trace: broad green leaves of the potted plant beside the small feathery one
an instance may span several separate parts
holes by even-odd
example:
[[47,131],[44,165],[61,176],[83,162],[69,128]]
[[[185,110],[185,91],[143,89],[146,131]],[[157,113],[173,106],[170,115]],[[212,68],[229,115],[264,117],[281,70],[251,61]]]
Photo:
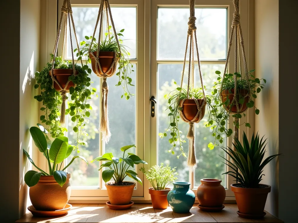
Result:
[[141,158],[136,156],[134,153],[127,153],[125,157],[125,151],[130,149],[131,147],[136,147],[135,145],[127,145],[120,148],[123,152],[123,156],[118,158],[113,156],[113,153],[105,153],[102,156],[95,158],[94,161],[107,161],[100,165],[99,170],[104,167],[108,167],[108,169],[102,172],[102,178],[107,183],[112,178],[114,179],[113,185],[121,186],[127,185],[124,183],[124,178],[126,176],[136,180],[142,185],[142,180],[137,176],[138,174],[129,168],[134,168],[134,164],[147,164],[147,162],[143,161]]

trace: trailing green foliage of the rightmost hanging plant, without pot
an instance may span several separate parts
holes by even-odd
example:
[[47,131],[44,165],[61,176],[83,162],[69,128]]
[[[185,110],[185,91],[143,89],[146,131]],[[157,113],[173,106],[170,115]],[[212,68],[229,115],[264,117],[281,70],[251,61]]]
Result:
[[[260,113],[260,110],[254,106],[254,101],[248,101],[248,99],[257,98],[257,93],[260,93],[261,89],[264,88],[264,84],[266,84],[266,79],[255,78],[252,75],[253,72],[254,70],[248,72],[249,79],[237,79],[237,89],[235,89],[235,76],[237,76],[237,78],[240,78],[240,73],[235,72],[234,74],[225,74],[224,78],[222,78],[221,72],[218,70],[215,71],[215,73],[218,75],[217,81],[214,82],[215,85],[212,91],[212,95],[215,95],[215,104],[213,106],[212,111],[210,112],[212,116],[211,123],[209,122],[208,124],[206,124],[206,126],[214,124],[215,121],[216,125],[214,125],[215,131],[213,132],[213,135],[216,137],[216,139],[219,139],[220,143],[223,142],[223,137],[229,137],[233,134],[233,130],[231,128],[226,128],[226,120],[228,120],[230,117],[232,106],[236,104],[235,101],[230,101],[229,95],[234,95],[233,92],[235,92],[238,98],[238,104],[243,106],[243,104],[246,103],[245,105],[248,108],[255,109],[255,114]],[[263,83],[261,83],[262,81]],[[228,95],[226,96],[225,101],[222,100],[222,92],[220,92],[221,85],[223,86],[223,91],[228,91]],[[249,90],[249,86],[251,91]],[[248,93],[243,95],[243,90],[246,90]],[[242,94],[240,93],[240,91],[242,92]],[[234,112],[232,114],[233,118],[240,119],[242,116],[246,117],[246,114],[243,112]],[[233,125],[237,128],[240,128],[240,125],[245,125],[246,127],[251,128],[251,125],[248,122],[239,123],[239,121],[233,121]],[[208,147],[214,147],[214,145],[209,144]]]

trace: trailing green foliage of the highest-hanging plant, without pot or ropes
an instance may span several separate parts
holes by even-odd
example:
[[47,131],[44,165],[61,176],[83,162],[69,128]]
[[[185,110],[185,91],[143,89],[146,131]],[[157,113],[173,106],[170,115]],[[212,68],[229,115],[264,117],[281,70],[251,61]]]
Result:
[[[111,26],[107,28],[107,30],[110,30],[110,29],[111,29]],[[116,34],[120,37],[120,36],[123,36],[122,32],[124,32],[124,29],[121,29]],[[119,80],[116,86],[122,86],[123,94],[121,95],[121,98],[125,97],[128,100],[131,96],[134,96],[134,94],[129,92],[129,89],[128,89],[128,86],[134,86],[132,84],[131,77],[128,76],[131,74],[131,72],[134,72],[134,70],[132,70],[134,66],[131,64],[129,60],[130,53],[126,49],[127,46],[123,45],[124,40],[118,39],[119,46],[120,46],[120,49],[119,49],[114,33],[110,33],[110,38],[108,37],[109,36],[108,34],[109,34],[108,32],[105,32],[105,39],[101,40],[100,43],[98,43],[95,37],[85,36],[86,40],[80,42],[80,45],[83,47],[80,49],[80,53],[77,53],[77,56],[79,57],[78,59],[81,59],[82,56],[85,56],[86,64],[91,63],[91,59],[89,58],[88,52],[89,52],[92,39],[93,39],[93,42],[91,45],[91,52],[97,51],[98,45],[99,45],[100,51],[116,52],[117,54],[116,56],[119,58],[119,62],[118,62],[119,71],[116,73],[116,75],[119,77]],[[76,51],[77,49],[74,50],[74,52]]]

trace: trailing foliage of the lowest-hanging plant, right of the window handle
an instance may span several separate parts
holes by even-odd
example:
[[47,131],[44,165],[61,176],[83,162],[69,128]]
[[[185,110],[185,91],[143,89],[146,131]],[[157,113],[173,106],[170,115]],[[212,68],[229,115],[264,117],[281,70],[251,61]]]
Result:
[[[177,84],[174,82],[174,84]],[[204,88],[206,91],[206,88]],[[180,106],[180,101],[183,99],[187,99],[187,88],[181,88],[177,85],[177,88],[173,90],[172,92],[169,93],[169,95],[165,95],[165,98],[168,98],[168,104],[169,107],[166,110],[169,110],[168,116],[170,117],[170,125],[169,127],[162,133],[159,133],[159,137],[163,138],[167,136],[167,132],[170,131],[170,137],[168,139],[170,145],[172,148],[168,150],[169,153],[172,153],[173,155],[175,154],[175,147],[177,146],[177,143],[179,144],[180,147],[180,154],[177,156],[179,158],[181,155],[184,157],[187,157],[186,154],[184,153],[184,149],[182,144],[185,142],[184,139],[181,138],[182,132],[179,130],[179,120],[180,120],[180,115],[179,115],[179,110],[182,111],[183,108]],[[202,87],[199,88],[191,88],[189,89],[189,98],[196,98],[196,99],[203,99],[203,91]],[[207,95],[206,94],[206,107],[208,110],[208,113],[212,113],[214,109],[216,109],[216,105],[214,104],[214,96],[213,95]],[[216,120],[212,120],[212,116],[209,115],[208,117],[208,122],[206,124],[206,127],[210,127],[210,129],[213,131],[212,135],[215,136],[215,140],[222,140],[220,138],[221,136],[218,137],[216,134]],[[210,142],[212,145],[213,143]],[[209,143],[209,145],[210,145]],[[208,146],[209,146],[208,145]],[[210,147],[210,149],[213,149],[214,147]]]

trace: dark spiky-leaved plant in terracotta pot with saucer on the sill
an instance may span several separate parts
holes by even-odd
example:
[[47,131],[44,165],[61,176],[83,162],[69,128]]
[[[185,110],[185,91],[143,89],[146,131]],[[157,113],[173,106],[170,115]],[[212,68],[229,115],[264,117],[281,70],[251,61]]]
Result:
[[[264,136],[263,136],[264,137]],[[265,155],[266,139],[259,140],[259,135],[252,135],[251,143],[243,132],[243,145],[238,139],[235,139],[235,152],[231,148],[222,149],[231,157],[232,161],[226,160],[232,170],[224,174],[231,175],[239,183],[231,185],[235,194],[239,211],[239,216],[244,218],[258,218],[265,216],[264,207],[271,186],[260,184],[262,180],[263,168],[274,157],[281,154],[269,156],[263,161]],[[263,161],[263,162],[262,162]],[[239,171],[238,171],[239,170]]]

